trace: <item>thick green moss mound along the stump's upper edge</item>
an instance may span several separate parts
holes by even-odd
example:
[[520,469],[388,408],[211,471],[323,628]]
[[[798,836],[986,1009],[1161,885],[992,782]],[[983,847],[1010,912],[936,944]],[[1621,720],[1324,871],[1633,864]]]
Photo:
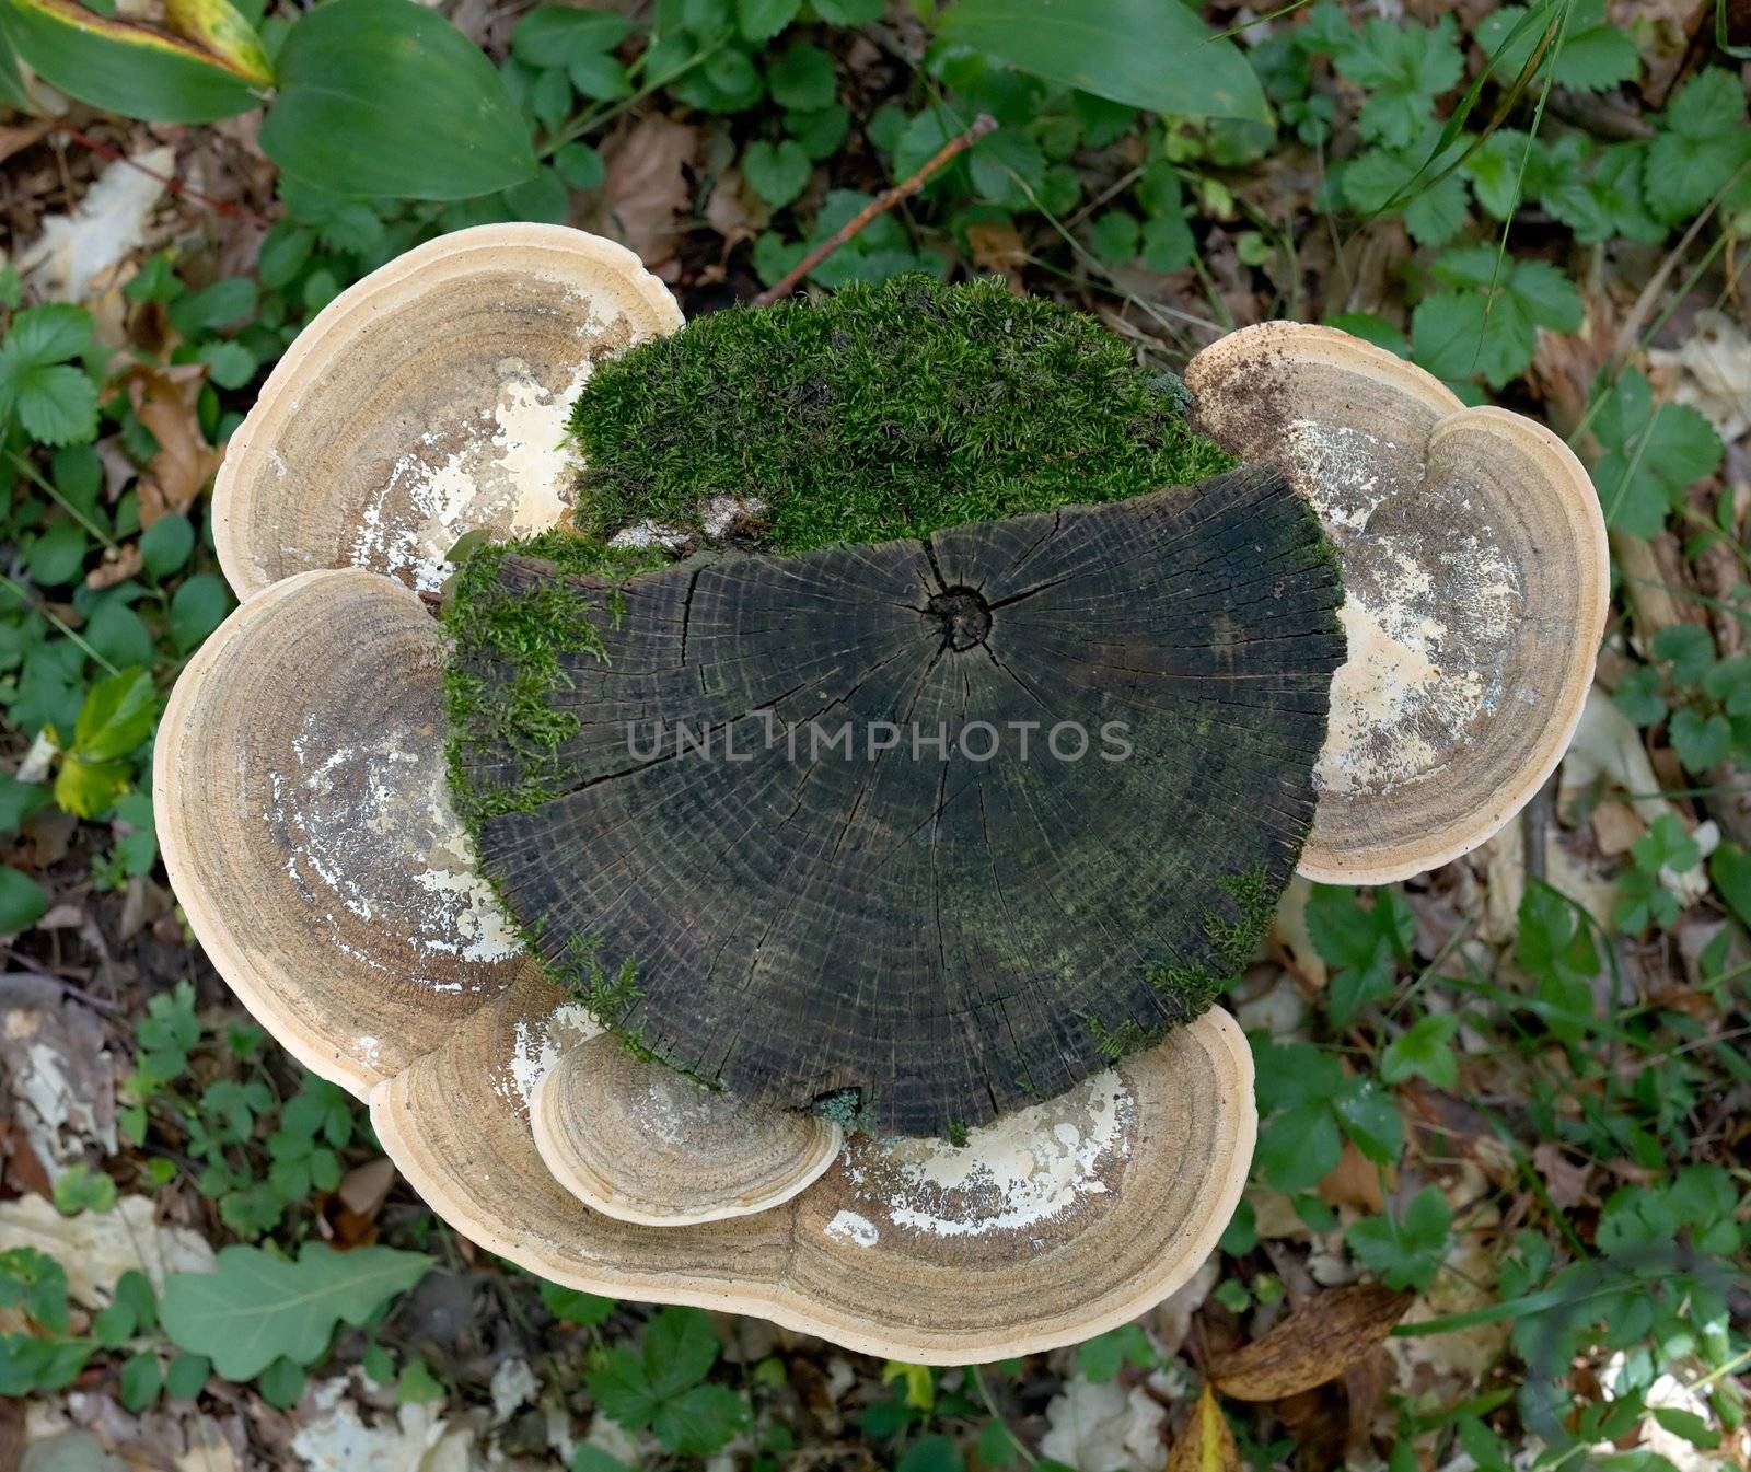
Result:
[[730,308],[602,364],[578,399],[578,527],[767,506],[783,553],[1121,501],[1234,466],[1185,389],[1093,317],[1002,282],[898,277]]

